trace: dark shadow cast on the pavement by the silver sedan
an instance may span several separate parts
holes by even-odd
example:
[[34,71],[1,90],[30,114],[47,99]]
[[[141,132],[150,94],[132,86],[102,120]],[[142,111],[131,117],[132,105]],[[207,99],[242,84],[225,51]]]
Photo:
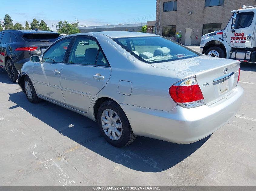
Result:
[[[188,145],[180,145],[139,136],[131,145],[124,148],[115,148],[109,145],[100,135],[97,123],[94,121],[47,101],[32,104],[26,99],[22,91],[9,95],[9,101],[16,103],[17,107],[22,107],[32,116],[56,129],[60,134],[67,136],[83,146],[82,148],[84,149],[76,152],[63,152],[62,156],[69,157],[69,160],[70,158],[82,160],[84,157],[83,151],[90,149],[108,160],[133,170],[161,172],[173,167],[193,154],[211,136],[209,135],[198,142]],[[16,108],[16,106],[10,107],[9,109],[11,110],[13,108]],[[35,125],[36,130],[37,124],[32,123],[31,126],[33,125]],[[44,126],[44,128],[47,127]],[[55,144],[62,145],[62,143]],[[62,145],[62,147],[63,150],[68,149],[65,145]],[[69,156],[67,156],[68,154]]]

